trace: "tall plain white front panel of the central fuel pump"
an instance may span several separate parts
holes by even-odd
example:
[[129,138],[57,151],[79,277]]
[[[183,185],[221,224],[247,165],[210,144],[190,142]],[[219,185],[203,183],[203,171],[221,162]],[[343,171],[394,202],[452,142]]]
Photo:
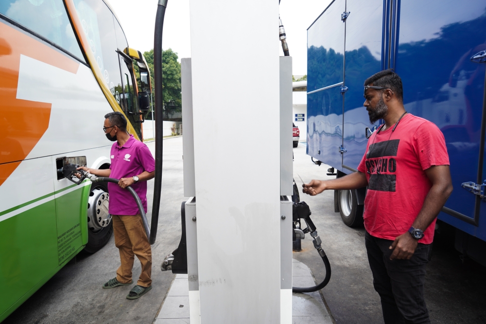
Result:
[[[201,323],[279,324],[278,2],[190,10]],[[265,91],[249,95],[255,75]],[[256,119],[265,145],[249,135]]]

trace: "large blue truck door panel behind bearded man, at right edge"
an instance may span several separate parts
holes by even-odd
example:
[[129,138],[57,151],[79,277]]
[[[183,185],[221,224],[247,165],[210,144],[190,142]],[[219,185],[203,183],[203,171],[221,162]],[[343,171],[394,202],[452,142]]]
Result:
[[405,109],[434,122],[446,140],[454,191],[439,218],[483,240],[485,202],[461,184],[486,176],[485,63],[471,61],[486,50],[485,8],[484,0],[401,1],[396,56]]

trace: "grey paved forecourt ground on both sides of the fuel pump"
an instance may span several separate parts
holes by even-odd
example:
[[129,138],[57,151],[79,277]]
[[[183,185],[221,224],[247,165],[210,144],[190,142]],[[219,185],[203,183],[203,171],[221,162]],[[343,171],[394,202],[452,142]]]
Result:
[[[313,165],[305,155],[305,145],[299,144],[294,152],[297,181],[297,173],[304,181],[327,177],[327,166]],[[139,300],[129,301],[125,296],[130,287],[101,289],[106,280],[114,277],[120,264],[112,238],[101,251],[79,255],[76,264],[60,270],[3,323],[153,323],[175,277],[172,272],[161,272],[159,267],[180,239],[180,202],[184,200],[182,138],[164,141],[163,170],[161,216],[157,241],[152,247],[154,288],[150,292]],[[151,188],[153,184],[149,182],[148,216]],[[322,293],[335,322],[383,323],[364,250],[364,229],[351,229],[343,224],[339,214],[334,213],[332,192],[302,200],[311,207],[312,220],[330,259],[332,277]],[[440,236],[436,237],[426,277],[425,294],[432,323],[486,323],[486,268],[470,260],[463,264],[459,253],[448,244],[450,240]],[[302,247],[302,252],[294,252],[294,258],[309,266],[317,280],[322,280],[324,267],[308,237],[302,241]],[[139,271],[136,260],[134,277]]]

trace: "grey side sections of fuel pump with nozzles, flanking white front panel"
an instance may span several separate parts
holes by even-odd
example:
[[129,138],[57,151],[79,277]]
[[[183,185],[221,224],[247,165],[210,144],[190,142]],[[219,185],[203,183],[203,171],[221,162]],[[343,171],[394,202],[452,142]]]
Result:
[[[191,323],[200,323],[202,310],[200,303],[200,286],[204,283],[199,279],[197,203],[194,170],[194,129],[192,107],[191,59],[183,58],[182,67],[182,123],[183,123],[183,161],[184,161],[184,196],[191,197],[181,206],[181,240],[174,252],[168,254],[161,264],[162,271],[172,270],[173,273],[188,274]],[[321,239],[317,234],[311,219],[311,211],[305,202],[292,201],[295,182],[293,181],[292,152],[292,58],[280,57],[280,277],[281,305],[292,303],[292,292],[312,292],[324,288],[331,275],[330,263],[322,249]],[[305,229],[296,226],[303,222]],[[326,268],[325,279],[316,286],[300,288],[292,287],[292,242],[304,239],[310,234],[315,249]],[[265,249],[265,247],[261,247]],[[250,266],[250,265],[249,265]],[[288,314],[281,311],[283,316]],[[290,315],[291,316],[291,315]]]

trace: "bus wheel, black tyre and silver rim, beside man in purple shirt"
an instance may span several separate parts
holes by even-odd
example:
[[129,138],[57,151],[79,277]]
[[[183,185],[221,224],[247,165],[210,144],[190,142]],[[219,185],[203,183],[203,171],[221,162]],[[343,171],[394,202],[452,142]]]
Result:
[[108,213],[108,186],[106,183],[91,184],[88,198],[88,242],[85,250],[94,253],[108,243],[113,234],[111,215]]

